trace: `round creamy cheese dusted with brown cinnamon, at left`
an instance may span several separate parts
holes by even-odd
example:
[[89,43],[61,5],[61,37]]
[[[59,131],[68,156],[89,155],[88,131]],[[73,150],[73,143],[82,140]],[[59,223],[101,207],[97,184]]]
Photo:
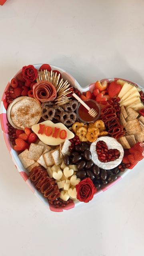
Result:
[[19,97],[9,105],[7,117],[10,124],[24,130],[37,124],[41,117],[41,106],[37,100],[27,96]]

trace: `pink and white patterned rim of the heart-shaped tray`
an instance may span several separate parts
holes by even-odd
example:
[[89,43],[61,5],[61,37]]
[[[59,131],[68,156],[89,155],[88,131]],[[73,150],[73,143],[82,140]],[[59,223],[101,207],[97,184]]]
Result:
[[[40,66],[42,64],[34,64],[34,67],[37,68],[39,70]],[[90,90],[90,92],[92,92],[93,88],[94,88],[94,84],[89,84],[88,86],[82,88],[80,86],[80,84],[76,81],[76,79],[70,75],[68,72],[66,72],[65,70],[63,70],[62,68],[59,68],[57,66],[53,66],[50,65],[52,70],[58,70],[60,71],[60,73],[62,74],[62,78],[64,78],[65,80],[67,79],[70,84],[77,88],[78,90],[80,90],[80,92],[85,92],[87,90]],[[18,73],[21,72],[18,71]],[[17,74],[18,74],[17,73]],[[15,78],[17,76],[17,74],[13,77]],[[122,79],[122,78],[106,78],[106,79],[102,79],[101,82],[103,80],[107,80],[108,82],[112,82],[112,81],[116,81],[118,79]],[[125,80],[127,82],[132,82],[126,79],[122,79]],[[134,82],[132,82],[133,84],[136,84]],[[8,82],[4,92],[8,89],[10,85],[10,82]],[[138,85],[138,84],[136,84]],[[143,88],[138,85],[142,90]],[[70,210],[72,208],[74,208],[75,206],[78,206],[79,204],[81,204],[82,202],[79,202],[78,200],[74,201],[71,204],[68,204],[68,206],[64,207],[64,208],[54,208],[52,205],[48,204],[48,200],[46,200],[43,195],[37,191],[34,187],[34,185],[30,182],[30,180],[28,179],[28,171],[22,166],[22,163],[20,162],[19,158],[18,158],[18,154],[15,150],[12,149],[12,145],[10,143],[9,137],[8,137],[8,129],[7,129],[7,117],[6,117],[6,102],[5,102],[5,94],[3,94],[2,96],[2,101],[1,101],[1,105],[0,105],[0,122],[1,122],[1,127],[2,127],[2,132],[3,132],[3,136],[4,136],[4,140],[6,142],[6,146],[8,148],[8,152],[10,153],[10,156],[12,157],[12,160],[14,162],[14,165],[16,166],[18,172],[20,173],[20,175],[22,176],[22,178],[24,179],[24,181],[26,182],[26,184],[29,186],[29,188],[32,190],[32,192],[42,201],[44,202],[44,204],[46,204],[46,206],[48,207],[48,209],[50,209],[53,212],[64,212],[65,210]],[[114,184],[116,184],[118,181],[120,181],[126,174],[128,174],[130,172],[130,169],[126,169],[124,172],[121,172],[119,174],[119,177],[117,178],[117,180],[115,182],[109,183],[108,185],[104,186],[103,188],[101,188],[100,190],[98,190],[98,192],[96,192],[96,194],[94,194],[94,197],[98,196],[99,194],[101,194],[102,192],[108,190],[110,187],[114,186]],[[93,199],[94,200],[94,199]],[[90,202],[89,202],[90,203]]]

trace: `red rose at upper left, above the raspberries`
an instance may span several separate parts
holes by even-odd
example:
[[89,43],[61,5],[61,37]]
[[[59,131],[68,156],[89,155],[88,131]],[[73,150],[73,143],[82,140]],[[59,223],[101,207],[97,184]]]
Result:
[[38,70],[33,65],[24,66],[22,68],[22,76],[26,81],[33,82],[38,76]]

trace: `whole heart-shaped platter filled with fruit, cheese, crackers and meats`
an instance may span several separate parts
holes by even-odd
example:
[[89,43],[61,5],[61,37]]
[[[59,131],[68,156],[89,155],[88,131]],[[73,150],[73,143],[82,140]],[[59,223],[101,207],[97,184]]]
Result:
[[129,80],[82,88],[62,68],[28,65],[6,86],[0,121],[24,181],[63,212],[94,200],[143,159],[143,102],[142,87]]

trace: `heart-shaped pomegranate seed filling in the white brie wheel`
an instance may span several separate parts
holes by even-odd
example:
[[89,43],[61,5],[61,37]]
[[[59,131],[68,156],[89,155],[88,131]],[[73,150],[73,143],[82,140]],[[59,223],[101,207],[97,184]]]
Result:
[[110,162],[119,158],[120,152],[117,149],[108,149],[106,142],[99,140],[96,144],[96,152],[101,162]]

